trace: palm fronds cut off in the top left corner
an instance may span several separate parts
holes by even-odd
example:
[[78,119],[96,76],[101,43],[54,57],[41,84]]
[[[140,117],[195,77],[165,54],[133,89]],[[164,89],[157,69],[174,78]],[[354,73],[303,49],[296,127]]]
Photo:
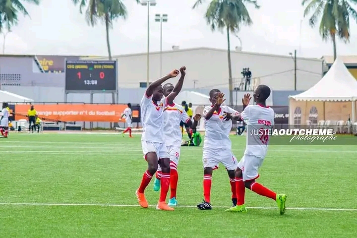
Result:
[[[40,4],[40,0],[23,0],[36,5]],[[12,26],[18,23],[17,14],[22,13],[24,16],[30,16],[21,0],[1,0],[0,1],[0,33],[5,27],[7,31],[11,31]]]

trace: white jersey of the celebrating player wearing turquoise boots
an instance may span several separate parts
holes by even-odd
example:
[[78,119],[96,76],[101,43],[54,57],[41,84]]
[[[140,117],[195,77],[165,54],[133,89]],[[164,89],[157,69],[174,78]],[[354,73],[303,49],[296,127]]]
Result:
[[184,108],[178,104],[167,105],[164,112],[164,133],[166,146],[181,147],[182,132],[179,127],[181,121],[190,120]]

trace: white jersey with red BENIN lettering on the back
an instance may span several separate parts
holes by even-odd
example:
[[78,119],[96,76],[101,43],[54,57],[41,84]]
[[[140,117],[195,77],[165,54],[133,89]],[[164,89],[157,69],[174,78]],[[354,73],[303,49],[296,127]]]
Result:
[[249,105],[240,117],[248,120],[244,155],[265,158],[268,151],[269,134],[274,125],[274,110],[260,105]]

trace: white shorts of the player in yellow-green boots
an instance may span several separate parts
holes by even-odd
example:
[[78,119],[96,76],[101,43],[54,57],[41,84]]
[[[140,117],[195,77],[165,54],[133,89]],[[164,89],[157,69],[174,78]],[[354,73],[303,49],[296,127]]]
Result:
[[258,170],[264,159],[252,155],[244,155],[238,163],[238,168],[243,172],[243,181],[259,178]]

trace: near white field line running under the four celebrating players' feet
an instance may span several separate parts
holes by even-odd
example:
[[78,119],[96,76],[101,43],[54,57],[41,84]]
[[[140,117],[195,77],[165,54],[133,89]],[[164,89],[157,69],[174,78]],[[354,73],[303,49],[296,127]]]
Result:
[[[93,206],[93,207],[140,207],[139,205],[125,204],[76,204],[76,203],[0,203],[0,206]],[[150,206],[156,207],[156,206]],[[177,206],[195,208],[196,206]],[[231,208],[228,206],[214,206],[213,208]],[[247,207],[248,209],[277,209],[277,207]],[[314,211],[345,211],[357,212],[357,209],[346,208],[314,208],[314,207],[287,207],[287,210],[314,210]]]

